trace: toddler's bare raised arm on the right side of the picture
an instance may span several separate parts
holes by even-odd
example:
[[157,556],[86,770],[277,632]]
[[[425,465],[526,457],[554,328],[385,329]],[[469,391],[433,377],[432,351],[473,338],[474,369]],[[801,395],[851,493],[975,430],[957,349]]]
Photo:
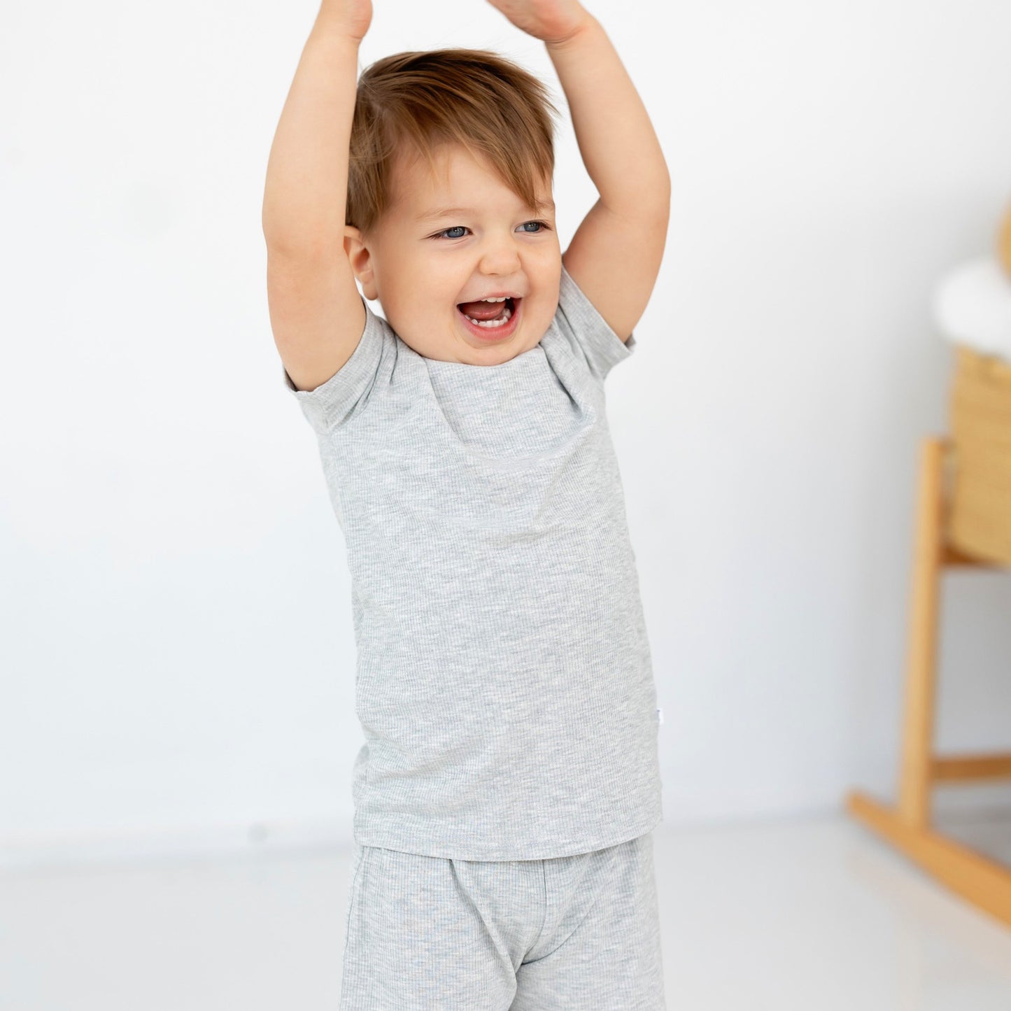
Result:
[[489,0],[542,39],[600,194],[562,256],[566,270],[627,341],[663,257],[670,176],[659,141],[611,39],[577,0]]

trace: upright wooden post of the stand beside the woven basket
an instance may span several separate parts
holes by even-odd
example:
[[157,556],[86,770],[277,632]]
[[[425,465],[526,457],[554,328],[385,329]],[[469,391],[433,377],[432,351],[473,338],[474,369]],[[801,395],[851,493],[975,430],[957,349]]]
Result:
[[946,441],[935,437],[924,439],[920,446],[899,784],[899,817],[909,828],[925,828],[931,817],[946,448]]

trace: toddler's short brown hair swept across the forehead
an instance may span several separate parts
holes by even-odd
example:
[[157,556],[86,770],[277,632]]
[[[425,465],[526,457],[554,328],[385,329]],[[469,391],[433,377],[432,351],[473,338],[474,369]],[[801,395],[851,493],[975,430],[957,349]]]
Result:
[[484,50],[398,53],[358,81],[351,127],[346,223],[368,232],[390,202],[390,172],[406,144],[432,165],[443,144],[483,156],[530,206],[554,171],[547,88]]

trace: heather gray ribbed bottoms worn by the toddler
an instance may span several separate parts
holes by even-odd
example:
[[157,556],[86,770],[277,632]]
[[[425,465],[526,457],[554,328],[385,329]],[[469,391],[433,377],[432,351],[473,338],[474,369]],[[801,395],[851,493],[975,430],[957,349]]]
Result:
[[544,860],[356,844],[341,1011],[659,1011],[653,835]]

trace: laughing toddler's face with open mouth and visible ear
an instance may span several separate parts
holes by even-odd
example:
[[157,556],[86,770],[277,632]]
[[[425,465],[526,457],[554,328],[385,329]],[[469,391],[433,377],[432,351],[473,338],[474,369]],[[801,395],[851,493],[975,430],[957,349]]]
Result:
[[351,264],[418,354],[497,365],[536,347],[558,306],[551,183],[537,211],[463,148],[441,149],[436,168],[398,159],[386,211],[367,237],[349,229]]

